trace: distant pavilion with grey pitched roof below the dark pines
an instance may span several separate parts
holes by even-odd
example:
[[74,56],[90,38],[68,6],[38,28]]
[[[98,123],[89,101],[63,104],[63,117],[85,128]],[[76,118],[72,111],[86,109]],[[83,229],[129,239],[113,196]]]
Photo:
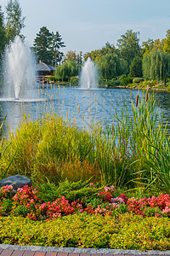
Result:
[[55,67],[40,61],[36,67],[37,81],[40,83],[46,83],[48,80],[48,77],[54,75],[54,69]]

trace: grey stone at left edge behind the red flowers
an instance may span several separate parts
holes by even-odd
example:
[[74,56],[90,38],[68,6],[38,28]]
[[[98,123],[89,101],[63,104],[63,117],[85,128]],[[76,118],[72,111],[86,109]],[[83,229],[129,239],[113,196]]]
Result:
[[12,185],[13,189],[17,190],[18,188],[22,188],[25,185],[28,185],[29,187],[31,187],[32,181],[29,177],[14,175],[14,176],[3,178],[0,181],[0,189],[6,185]]

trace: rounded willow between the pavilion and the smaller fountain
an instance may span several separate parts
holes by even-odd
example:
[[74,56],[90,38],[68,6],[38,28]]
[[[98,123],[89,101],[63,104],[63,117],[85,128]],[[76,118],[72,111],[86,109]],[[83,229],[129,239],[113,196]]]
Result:
[[55,68],[54,75],[56,79],[61,79],[62,81],[70,80],[71,77],[77,76],[78,67],[75,61],[65,61],[59,67]]

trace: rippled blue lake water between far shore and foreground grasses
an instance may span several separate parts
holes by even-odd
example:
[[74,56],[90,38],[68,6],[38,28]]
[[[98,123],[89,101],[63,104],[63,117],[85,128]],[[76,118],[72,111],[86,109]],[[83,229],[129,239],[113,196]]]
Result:
[[[88,130],[92,122],[94,124],[99,122],[103,126],[111,125],[115,113],[121,114],[123,102],[131,111],[131,94],[135,101],[138,92],[139,96],[143,95],[142,90],[120,88],[81,90],[77,86],[70,88],[67,85],[58,86],[57,84],[53,86],[45,84],[45,88],[42,88],[42,84],[37,84],[31,101],[5,101],[0,96],[0,105],[3,108],[0,120],[8,113],[8,126],[11,131],[15,131],[25,114],[29,114],[31,119],[38,119],[44,113],[54,112],[63,116],[64,119],[69,118],[71,122],[76,122],[78,127],[85,127]],[[164,123],[166,123],[170,120],[170,93],[157,91],[156,100],[160,102]],[[5,126],[4,129],[8,133]]]

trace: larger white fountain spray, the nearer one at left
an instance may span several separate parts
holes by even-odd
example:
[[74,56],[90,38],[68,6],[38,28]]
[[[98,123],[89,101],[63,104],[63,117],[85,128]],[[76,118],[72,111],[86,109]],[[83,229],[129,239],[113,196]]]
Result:
[[35,61],[31,49],[19,37],[5,50],[4,97],[28,99],[36,84]]

